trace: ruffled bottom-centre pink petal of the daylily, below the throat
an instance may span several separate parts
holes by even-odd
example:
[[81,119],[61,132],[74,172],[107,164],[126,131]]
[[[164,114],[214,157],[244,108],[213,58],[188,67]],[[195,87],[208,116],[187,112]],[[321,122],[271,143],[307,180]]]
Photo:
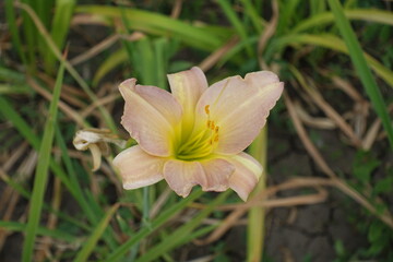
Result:
[[164,165],[164,177],[169,187],[186,198],[195,184],[203,191],[225,191],[234,166],[224,159],[214,158],[202,162],[168,160]]

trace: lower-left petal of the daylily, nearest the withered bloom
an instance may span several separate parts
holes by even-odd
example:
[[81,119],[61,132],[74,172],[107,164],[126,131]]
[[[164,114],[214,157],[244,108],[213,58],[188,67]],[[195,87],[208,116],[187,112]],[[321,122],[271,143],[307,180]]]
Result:
[[114,159],[119,169],[123,188],[136,189],[164,179],[165,158],[146,154],[139,145],[122,151]]

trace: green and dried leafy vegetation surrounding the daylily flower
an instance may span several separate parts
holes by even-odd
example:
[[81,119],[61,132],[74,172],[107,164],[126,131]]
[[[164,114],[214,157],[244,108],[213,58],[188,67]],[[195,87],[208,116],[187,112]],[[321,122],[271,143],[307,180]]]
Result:
[[[0,19],[0,260],[393,261],[391,1],[5,0]],[[286,83],[249,148],[267,172],[247,203],[165,182],[124,191],[118,147],[93,172],[72,145],[84,128],[129,139],[120,81],[168,88],[192,66],[210,83],[259,70]],[[273,165],[293,152],[312,170]],[[354,235],[330,236],[330,257],[271,236],[275,209],[294,218],[337,198]]]

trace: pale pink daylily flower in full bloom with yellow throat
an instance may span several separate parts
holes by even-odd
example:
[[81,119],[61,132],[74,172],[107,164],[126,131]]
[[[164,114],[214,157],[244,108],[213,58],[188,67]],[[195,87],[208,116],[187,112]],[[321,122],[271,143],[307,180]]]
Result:
[[259,134],[284,83],[272,72],[231,76],[207,87],[201,69],[168,75],[171,94],[122,82],[121,123],[139,145],[116,156],[124,189],[165,179],[179,195],[192,187],[235,190],[246,201],[262,166],[242,151]]

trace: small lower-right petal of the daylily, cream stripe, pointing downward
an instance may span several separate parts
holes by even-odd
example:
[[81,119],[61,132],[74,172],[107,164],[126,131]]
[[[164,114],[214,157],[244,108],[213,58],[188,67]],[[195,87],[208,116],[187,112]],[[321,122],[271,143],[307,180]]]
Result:
[[229,187],[240,196],[240,199],[247,201],[248,195],[257,186],[263,168],[258,160],[243,152],[230,156],[230,159],[228,160],[236,168],[235,172],[229,178]]

